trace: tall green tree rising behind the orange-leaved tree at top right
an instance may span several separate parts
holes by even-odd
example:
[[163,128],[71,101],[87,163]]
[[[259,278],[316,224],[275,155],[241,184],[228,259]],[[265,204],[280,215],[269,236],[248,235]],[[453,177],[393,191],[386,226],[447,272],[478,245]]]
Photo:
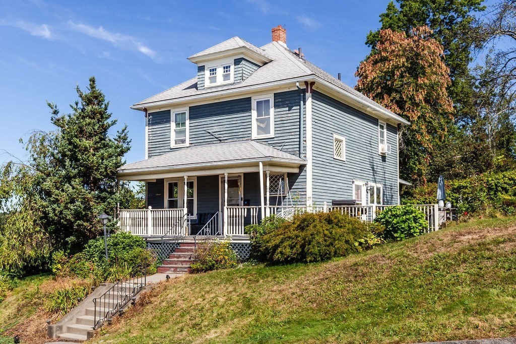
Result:
[[473,85],[469,78],[472,45],[480,37],[475,35],[474,12],[485,10],[483,0],[396,0],[380,14],[381,27],[370,31],[366,44],[376,53],[380,30],[392,29],[410,35],[414,27],[428,26],[431,37],[443,45],[445,63],[449,68],[451,84],[448,94],[454,102],[456,117],[461,120],[473,110]]

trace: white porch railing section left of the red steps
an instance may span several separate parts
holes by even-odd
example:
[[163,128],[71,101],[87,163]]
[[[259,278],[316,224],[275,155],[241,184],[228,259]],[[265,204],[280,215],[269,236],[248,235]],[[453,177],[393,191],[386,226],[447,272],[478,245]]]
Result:
[[120,210],[119,226],[138,236],[185,236],[185,217],[184,209]]

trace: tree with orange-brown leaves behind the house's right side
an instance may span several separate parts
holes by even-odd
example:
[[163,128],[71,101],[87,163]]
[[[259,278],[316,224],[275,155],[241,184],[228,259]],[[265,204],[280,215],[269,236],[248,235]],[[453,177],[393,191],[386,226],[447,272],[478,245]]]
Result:
[[355,75],[358,91],[410,121],[400,130],[399,170],[402,178],[425,184],[434,144],[453,124],[443,46],[427,26],[410,34],[380,30],[376,52],[360,63]]

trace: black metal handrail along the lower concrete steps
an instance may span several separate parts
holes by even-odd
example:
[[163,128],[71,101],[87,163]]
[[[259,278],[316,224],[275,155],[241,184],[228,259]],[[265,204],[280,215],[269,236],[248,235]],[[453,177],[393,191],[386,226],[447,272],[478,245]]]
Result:
[[147,260],[140,267],[140,274],[120,279],[100,297],[93,299],[93,330],[99,329],[106,320],[119,313],[147,285]]

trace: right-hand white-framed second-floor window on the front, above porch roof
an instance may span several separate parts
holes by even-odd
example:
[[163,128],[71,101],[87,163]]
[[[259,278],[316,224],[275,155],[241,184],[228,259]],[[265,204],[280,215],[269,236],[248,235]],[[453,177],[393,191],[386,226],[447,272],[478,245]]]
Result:
[[251,137],[274,137],[274,96],[266,94],[252,97]]

